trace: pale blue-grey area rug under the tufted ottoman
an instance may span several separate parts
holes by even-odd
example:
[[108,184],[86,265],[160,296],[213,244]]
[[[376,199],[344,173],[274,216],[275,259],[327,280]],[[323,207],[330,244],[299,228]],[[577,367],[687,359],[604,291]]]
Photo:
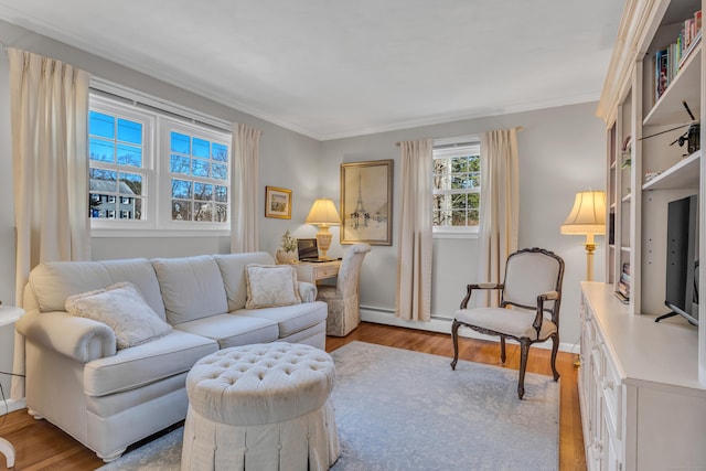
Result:
[[[334,471],[558,470],[559,385],[517,371],[364,342],[331,353]],[[179,470],[178,429],[100,471]]]

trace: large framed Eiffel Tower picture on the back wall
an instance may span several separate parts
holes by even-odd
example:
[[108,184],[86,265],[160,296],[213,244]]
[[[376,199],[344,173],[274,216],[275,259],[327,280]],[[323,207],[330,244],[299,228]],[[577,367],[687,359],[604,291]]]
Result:
[[393,160],[341,164],[341,244],[393,244]]

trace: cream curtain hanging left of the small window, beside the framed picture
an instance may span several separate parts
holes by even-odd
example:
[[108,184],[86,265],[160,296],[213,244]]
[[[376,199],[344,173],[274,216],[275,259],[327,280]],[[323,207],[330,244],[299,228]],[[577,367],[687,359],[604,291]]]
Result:
[[402,183],[395,315],[431,319],[431,139],[402,142]]

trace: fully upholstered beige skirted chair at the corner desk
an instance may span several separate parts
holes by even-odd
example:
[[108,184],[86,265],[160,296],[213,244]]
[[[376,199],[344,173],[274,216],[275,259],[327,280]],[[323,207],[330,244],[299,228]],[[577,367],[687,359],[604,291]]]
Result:
[[361,322],[359,280],[367,244],[352,245],[343,256],[335,286],[319,286],[318,301],[329,304],[327,335],[345,336]]

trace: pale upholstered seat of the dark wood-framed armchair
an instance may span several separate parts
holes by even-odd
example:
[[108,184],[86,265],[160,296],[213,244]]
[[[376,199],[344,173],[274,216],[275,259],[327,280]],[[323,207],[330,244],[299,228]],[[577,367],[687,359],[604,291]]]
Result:
[[544,318],[539,335],[537,335],[537,331],[532,327],[536,315],[536,311],[504,308],[461,309],[456,312],[456,319],[459,322],[486,329],[499,334],[511,335],[516,339],[548,339],[549,335],[556,332],[556,324],[550,319]]

